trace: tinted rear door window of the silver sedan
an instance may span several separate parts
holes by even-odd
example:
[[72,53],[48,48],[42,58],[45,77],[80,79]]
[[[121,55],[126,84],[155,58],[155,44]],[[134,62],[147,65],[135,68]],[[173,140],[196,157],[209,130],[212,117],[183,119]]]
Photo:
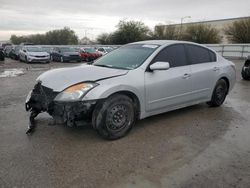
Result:
[[211,62],[208,49],[190,44],[187,44],[186,47],[191,64]]

